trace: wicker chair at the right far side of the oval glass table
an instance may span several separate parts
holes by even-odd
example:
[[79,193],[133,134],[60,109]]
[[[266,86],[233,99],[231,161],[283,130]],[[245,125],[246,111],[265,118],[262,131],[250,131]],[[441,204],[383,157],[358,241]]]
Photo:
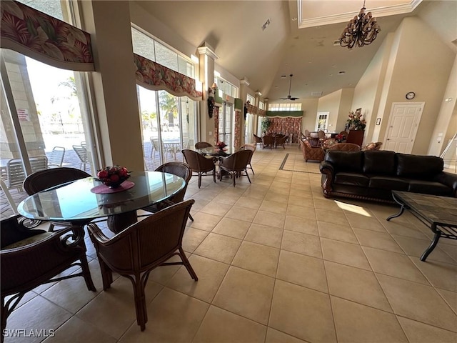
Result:
[[[187,186],[189,185],[189,181],[191,181],[192,177],[192,169],[189,166],[189,164],[185,164],[183,162],[167,162],[165,164],[162,164],[161,166],[158,166],[155,170],[155,172],[163,172],[163,173],[169,173],[169,174],[174,174],[178,177],[182,177],[184,181],[186,182],[186,185],[184,186],[181,191],[178,193],[174,194],[174,196],[170,199],[167,199],[164,202],[160,202],[159,204],[152,204],[148,207],[144,207],[143,210],[147,212],[152,212],[156,213],[159,212],[161,209],[166,209],[167,207],[170,207],[174,204],[178,204],[179,202],[184,202],[184,196],[186,195],[186,189]],[[142,214],[138,217],[145,217],[150,214]],[[194,222],[194,218],[192,218],[191,214],[189,214],[189,219],[191,219],[192,222]]]

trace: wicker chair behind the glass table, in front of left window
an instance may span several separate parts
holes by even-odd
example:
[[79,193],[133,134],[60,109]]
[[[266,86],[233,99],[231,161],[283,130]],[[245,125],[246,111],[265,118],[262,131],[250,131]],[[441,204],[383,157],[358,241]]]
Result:
[[[85,177],[90,177],[90,174],[84,172],[84,170],[76,169],[76,168],[51,168],[51,169],[44,169],[40,170],[39,172],[35,172],[34,174],[30,174],[24,180],[24,190],[27,194],[32,195],[44,189],[52,188],[59,186],[59,184],[66,184],[68,182],[73,182],[79,179],[84,179]],[[87,222],[90,222],[88,220]],[[81,222],[81,225],[86,224],[85,222]],[[49,231],[54,231],[54,227],[71,227],[73,224],[70,222],[49,222]]]

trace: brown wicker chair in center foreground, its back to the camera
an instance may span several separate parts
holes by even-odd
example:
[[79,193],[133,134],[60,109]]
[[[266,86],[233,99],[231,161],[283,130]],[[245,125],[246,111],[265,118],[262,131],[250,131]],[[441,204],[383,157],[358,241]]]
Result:
[[[153,269],[184,264],[192,279],[198,280],[182,248],[184,229],[194,202],[188,200],[174,204],[132,224],[111,239],[96,224],[89,224],[89,235],[99,258],[103,288],[111,287],[112,272],[117,272],[132,282],[136,323],[141,331],[144,331],[148,322],[144,289]],[[181,257],[181,262],[166,262],[174,255]]]

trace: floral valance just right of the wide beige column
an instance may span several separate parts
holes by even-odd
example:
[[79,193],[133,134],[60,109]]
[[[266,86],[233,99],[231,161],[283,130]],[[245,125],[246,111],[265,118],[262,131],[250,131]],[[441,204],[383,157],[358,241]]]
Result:
[[136,81],[151,91],[168,91],[174,96],[189,96],[201,100],[201,91],[195,89],[195,80],[154,61],[134,54]]

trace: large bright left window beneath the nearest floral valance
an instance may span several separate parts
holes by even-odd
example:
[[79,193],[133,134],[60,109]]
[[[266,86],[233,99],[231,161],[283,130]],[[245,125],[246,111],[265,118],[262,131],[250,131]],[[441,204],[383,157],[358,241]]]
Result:
[[[16,130],[2,89],[1,136],[2,177],[6,188],[19,203],[26,197],[20,181],[26,174],[56,166],[71,166],[89,174],[96,172],[92,154],[91,135],[84,106],[86,97],[82,87],[82,73],[54,68],[15,51],[1,49],[6,79],[11,86],[13,113],[18,120],[25,142],[24,151],[31,169],[19,169],[19,187],[11,176],[11,164],[19,159]],[[26,172],[28,170],[29,173]],[[10,176],[8,173],[10,172]]]

